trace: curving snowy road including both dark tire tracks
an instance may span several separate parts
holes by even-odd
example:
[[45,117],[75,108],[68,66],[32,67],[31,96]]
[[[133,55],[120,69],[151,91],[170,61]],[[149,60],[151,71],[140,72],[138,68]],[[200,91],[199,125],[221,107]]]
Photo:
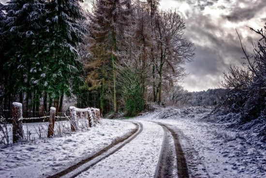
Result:
[[189,178],[178,133],[169,126],[128,121],[137,126],[125,140],[50,178]]

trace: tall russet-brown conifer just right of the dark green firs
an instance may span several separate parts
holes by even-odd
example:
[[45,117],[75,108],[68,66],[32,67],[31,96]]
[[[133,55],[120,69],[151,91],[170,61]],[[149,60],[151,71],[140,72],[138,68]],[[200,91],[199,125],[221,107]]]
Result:
[[[101,80],[100,85],[104,89],[104,82],[112,81],[114,112],[117,113],[117,71],[118,51],[120,40],[123,39],[124,26],[128,23],[128,16],[131,12],[130,0],[95,0],[93,12],[90,16],[91,26],[91,46],[92,58],[102,68],[102,75],[96,77]],[[106,67],[107,66],[107,67]],[[110,79],[108,73],[112,72]],[[95,79],[93,75],[89,75]],[[99,84],[98,84],[99,85]],[[101,91],[103,94],[104,92]],[[103,97],[103,96],[101,96]]]

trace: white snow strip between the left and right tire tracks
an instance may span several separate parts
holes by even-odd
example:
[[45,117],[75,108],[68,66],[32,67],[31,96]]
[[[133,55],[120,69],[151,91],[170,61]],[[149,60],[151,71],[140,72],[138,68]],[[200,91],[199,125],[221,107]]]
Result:
[[143,131],[133,141],[77,178],[153,178],[161,153],[163,129],[155,123],[140,122]]

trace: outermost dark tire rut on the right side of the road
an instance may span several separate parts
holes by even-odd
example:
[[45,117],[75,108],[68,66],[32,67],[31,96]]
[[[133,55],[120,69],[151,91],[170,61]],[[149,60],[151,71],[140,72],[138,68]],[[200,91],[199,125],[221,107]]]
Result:
[[169,130],[170,133],[172,134],[173,138],[174,138],[176,156],[177,156],[177,176],[178,176],[178,178],[189,178],[188,167],[187,167],[186,159],[184,156],[184,152],[183,152],[182,147],[179,143],[178,134],[175,132],[175,130],[169,128],[168,126],[166,126],[162,123],[158,123],[158,124],[160,126],[166,128],[167,130]]

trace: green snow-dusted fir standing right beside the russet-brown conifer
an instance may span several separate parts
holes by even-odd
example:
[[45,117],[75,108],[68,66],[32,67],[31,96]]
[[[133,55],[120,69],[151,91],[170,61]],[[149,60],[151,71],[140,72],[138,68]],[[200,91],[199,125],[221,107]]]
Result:
[[83,0],[50,0],[45,26],[42,87],[54,99],[58,109],[59,97],[71,95],[72,81],[79,77],[81,63],[77,59],[76,45],[83,40],[84,28],[78,23],[84,18],[80,2]]

